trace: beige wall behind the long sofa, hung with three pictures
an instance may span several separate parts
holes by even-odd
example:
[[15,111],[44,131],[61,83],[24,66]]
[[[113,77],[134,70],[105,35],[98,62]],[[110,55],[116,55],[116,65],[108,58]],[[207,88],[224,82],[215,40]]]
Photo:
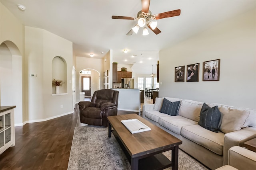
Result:
[[[220,81],[203,82],[203,62],[213,59],[220,59]],[[176,66],[194,63],[200,63],[199,82],[174,82]],[[256,109],[255,84],[255,9],[160,51],[160,97]]]

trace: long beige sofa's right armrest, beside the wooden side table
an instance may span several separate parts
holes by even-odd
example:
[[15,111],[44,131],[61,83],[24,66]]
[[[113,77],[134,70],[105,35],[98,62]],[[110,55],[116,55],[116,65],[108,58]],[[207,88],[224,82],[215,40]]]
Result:
[[246,141],[256,137],[255,127],[246,127],[239,131],[226,133],[223,146],[223,165],[228,164],[228,150],[234,146],[241,146]]

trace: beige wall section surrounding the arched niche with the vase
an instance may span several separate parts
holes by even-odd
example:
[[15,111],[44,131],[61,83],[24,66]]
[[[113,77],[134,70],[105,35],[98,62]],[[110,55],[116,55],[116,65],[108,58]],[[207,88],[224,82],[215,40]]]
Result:
[[[72,113],[72,42],[44,29],[26,26],[25,47],[28,80],[27,122]],[[66,61],[67,72],[63,74],[67,77],[64,82],[67,94],[52,96],[52,59],[56,56]],[[37,77],[30,77],[30,74],[37,74]]]

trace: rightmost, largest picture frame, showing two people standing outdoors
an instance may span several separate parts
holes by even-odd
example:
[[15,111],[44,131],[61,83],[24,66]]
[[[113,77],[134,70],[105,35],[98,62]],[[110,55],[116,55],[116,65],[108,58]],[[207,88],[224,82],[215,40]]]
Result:
[[220,81],[220,59],[204,61],[203,81]]

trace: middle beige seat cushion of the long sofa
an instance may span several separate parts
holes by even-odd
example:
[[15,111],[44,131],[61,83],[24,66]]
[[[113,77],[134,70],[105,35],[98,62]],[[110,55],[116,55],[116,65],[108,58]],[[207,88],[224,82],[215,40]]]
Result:
[[180,135],[183,126],[196,125],[197,122],[182,116],[163,116],[159,118],[159,124]]

